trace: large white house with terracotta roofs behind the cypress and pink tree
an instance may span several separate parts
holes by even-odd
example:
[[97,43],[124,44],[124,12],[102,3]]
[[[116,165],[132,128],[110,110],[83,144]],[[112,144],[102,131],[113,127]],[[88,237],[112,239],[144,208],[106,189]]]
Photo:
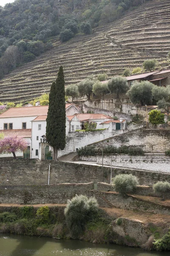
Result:
[[[74,115],[80,111],[76,105],[66,103],[65,112],[66,115]],[[38,158],[40,137],[45,135],[47,113],[48,106],[31,106],[26,108],[10,108],[0,114],[0,133],[4,133],[5,136],[9,134],[25,136],[24,138],[27,138],[30,144],[27,152],[24,155],[23,153],[17,153],[17,157]],[[69,127],[69,119],[66,118],[66,134],[69,132]],[[0,157],[9,156],[9,154],[0,155]]]

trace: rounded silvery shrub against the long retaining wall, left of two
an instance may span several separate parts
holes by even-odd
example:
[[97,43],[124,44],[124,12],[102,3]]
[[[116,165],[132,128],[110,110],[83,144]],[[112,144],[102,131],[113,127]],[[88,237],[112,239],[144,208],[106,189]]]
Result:
[[122,195],[132,193],[138,185],[138,179],[132,174],[119,174],[112,179],[116,192]]

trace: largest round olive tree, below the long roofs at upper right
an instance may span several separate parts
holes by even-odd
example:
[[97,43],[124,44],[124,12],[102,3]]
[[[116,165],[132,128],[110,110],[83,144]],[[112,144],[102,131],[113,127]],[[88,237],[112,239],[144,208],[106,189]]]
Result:
[[133,104],[151,105],[153,84],[148,81],[134,82],[127,95]]

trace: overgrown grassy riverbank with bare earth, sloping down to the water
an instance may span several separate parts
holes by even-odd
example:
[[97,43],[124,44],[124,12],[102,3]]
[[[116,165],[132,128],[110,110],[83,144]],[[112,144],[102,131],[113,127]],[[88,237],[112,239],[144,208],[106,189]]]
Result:
[[[49,209],[48,216],[43,212],[44,207]],[[62,204],[1,204],[0,233],[71,239],[65,223],[64,208],[65,205]],[[114,243],[152,250],[154,239],[159,239],[167,233],[168,227],[170,215],[100,208],[98,218],[86,224],[85,231],[79,239],[92,243]]]

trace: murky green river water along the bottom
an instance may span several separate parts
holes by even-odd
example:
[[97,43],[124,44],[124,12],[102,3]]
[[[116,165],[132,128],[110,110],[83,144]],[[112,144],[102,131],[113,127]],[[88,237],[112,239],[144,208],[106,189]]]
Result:
[[115,244],[0,234],[0,256],[170,256]]

